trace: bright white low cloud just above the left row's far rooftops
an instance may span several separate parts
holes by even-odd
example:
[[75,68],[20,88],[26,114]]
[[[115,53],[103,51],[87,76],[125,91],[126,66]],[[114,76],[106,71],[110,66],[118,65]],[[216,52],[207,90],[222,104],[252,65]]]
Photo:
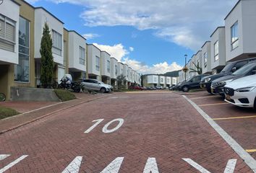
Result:
[[93,43],[93,45],[97,46],[101,50],[105,50],[111,55],[111,57],[116,58],[118,61],[127,63],[128,66],[141,74],[164,74],[168,71],[182,69],[182,66],[179,66],[176,62],[171,64],[163,62],[153,64],[153,66],[148,66],[140,61],[131,59],[128,55],[134,48],[129,47],[129,50],[127,50],[121,43],[117,45],[99,45],[97,43]]

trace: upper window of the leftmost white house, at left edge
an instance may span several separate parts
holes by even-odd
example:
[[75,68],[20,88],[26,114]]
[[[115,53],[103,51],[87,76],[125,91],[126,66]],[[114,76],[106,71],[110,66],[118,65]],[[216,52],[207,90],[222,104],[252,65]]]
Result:
[[16,22],[0,14],[0,48],[14,52]]

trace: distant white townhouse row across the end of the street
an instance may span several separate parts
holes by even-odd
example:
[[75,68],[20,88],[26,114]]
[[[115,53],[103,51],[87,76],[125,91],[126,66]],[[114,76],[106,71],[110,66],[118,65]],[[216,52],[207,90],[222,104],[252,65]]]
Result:
[[155,87],[162,86],[163,88],[176,85],[179,82],[179,77],[161,76],[158,74],[147,74],[142,76],[143,86]]

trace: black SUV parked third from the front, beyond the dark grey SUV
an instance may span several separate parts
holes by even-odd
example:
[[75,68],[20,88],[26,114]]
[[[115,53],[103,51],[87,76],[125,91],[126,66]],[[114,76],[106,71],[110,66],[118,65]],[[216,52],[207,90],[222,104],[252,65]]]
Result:
[[245,64],[249,63],[250,61],[254,61],[254,60],[256,60],[256,58],[249,58],[249,59],[245,59],[245,60],[227,63],[226,66],[221,71],[221,73],[213,74],[210,76],[206,76],[205,78],[202,78],[200,81],[200,87],[205,88],[209,93],[211,93],[210,85],[212,84],[212,81],[214,81],[215,79],[218,79],[222,76],[232,74],[232,73],[234,73],[234,71],[238,70]]

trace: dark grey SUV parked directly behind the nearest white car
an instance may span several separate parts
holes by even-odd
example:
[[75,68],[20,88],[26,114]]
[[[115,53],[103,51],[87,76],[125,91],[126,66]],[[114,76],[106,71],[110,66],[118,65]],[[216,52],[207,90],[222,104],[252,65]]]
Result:
[[242,78],[244,76],[249,76],[253,74],[256,74],[256,61],[251,61],[247,63],[245,66],[242,66],[242,68],[239,68],[239,70],[235,71],[233,74],[226,75],[214,80],[210,86],[211,92],[213,94],[220,94],[224,98],[225,94],[223,92],[223,87],[226,84],[229,84],[229,82]]

